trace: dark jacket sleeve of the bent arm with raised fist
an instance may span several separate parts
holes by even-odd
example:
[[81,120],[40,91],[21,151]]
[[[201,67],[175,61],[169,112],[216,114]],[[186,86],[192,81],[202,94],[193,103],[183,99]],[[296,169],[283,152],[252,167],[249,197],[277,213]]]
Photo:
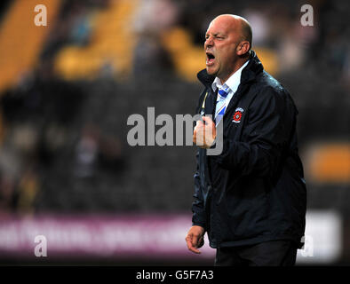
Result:
[[265,87],[249,107],[240,141],[223,136],[223,151],[213,156],[239,175],[273,176],[289,143],[295,106],[286,92]]

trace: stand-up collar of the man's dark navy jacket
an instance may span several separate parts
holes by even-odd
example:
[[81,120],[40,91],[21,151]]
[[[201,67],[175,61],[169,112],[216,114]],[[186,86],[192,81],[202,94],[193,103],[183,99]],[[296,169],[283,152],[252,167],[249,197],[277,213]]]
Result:
[[[241,76],[241,83],[247,83],[253,81],[255,77],[264,70],[261,61],[259,60],[255,51],[251,50],[250,61],[248,65],[243,69]],[[210,87],[214,82],[215,76],[209,75],[206,69],[203,69],[197,74],[197,78],[199,81],[203,83],[204,86]]]

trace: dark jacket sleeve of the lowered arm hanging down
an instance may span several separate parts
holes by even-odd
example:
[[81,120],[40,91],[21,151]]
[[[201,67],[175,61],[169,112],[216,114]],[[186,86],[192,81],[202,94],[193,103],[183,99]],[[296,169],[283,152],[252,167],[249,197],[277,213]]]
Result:
[[192,225],[200,225],[206,230],[206,213],[204,209],[203,191],[201,185],[201,179],[199,174],[199,151],[196,156],[196,171],[195,171],[195,193],[193,195],[194,201],[192,203]]

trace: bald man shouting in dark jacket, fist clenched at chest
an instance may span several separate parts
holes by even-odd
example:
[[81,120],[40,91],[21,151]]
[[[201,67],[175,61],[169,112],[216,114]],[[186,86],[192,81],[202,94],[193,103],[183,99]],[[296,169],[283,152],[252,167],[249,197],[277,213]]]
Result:
[[[187,247],[201,253],[207,233],[217,249],[216,265],[294,265],[306,215],[298,110],[266,73],[251,42],[249,22],[235,15],[215,18],[205,35]],[[207,154],[218,138],[222,152]]]

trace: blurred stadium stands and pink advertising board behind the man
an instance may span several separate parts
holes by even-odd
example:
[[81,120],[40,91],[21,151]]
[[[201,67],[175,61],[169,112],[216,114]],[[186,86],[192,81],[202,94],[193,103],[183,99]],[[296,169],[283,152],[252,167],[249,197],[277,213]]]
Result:
[[[37,27],[36,4],[47,8]],[[303,4],[314,27],[300,24]],[[0,264],[208,264],[184,241],[195,148],[127,144],[131,114],[194,114],[204,33],[247,18],[290,90],[305,166],[299,265],[350,264],[349,2],[13,0],[0,11]],[[36,235],[47,256],[36,257]]]

